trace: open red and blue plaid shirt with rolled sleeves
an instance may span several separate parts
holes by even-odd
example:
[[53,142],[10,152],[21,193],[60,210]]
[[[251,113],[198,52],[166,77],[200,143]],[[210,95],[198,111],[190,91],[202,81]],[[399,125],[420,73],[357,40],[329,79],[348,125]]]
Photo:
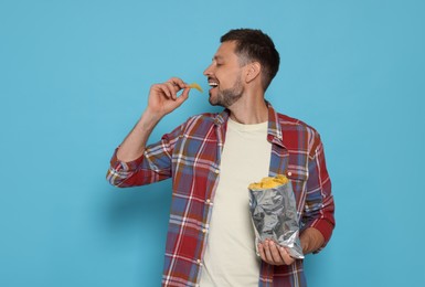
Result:
[[[116,187],[172,178],[163,286],[198,286],[200,280],[227,118],[229,110],[191,117],[148,146],[139,159],[123,162],[115,153],[110,161],[107,180]],[[268,105],[267,140],[272,142],[269,176],[290,179],[301,230],[319,230],[327,243],[334,226],[334,206],[318,132]],[[302,261],[290,266],[262,262],[258,286],[306,286]]]

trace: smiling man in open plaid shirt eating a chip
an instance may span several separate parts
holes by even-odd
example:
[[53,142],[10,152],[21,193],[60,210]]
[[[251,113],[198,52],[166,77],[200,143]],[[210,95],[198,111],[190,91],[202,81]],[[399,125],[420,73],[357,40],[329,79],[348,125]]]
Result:
[[147,147],[155,126],[190,92],[178,77],[152,85],[148,107],[116,150],[107,179],[134,187],[172,178],[163,286],[306,286],[302,261],[273,241],[254,246],[247,185],[285,174],[297,202],[304,253],[318,252],[334,226],[320,137],[264,99],[279,65],[266,34],[232,30],[221,42],[204,75],[210,103],[225,109],[193,116]]

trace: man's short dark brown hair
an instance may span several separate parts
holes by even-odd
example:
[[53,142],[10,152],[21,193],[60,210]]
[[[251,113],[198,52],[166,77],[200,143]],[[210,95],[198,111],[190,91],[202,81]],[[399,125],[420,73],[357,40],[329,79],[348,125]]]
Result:
[[235,53],[241,64],[258,61],[263,68],[262,83],[267,89],[279,70],[280,57],[273,40],[263,31],[254,29],[234,29],[222,35],[220,42],[235,41]]

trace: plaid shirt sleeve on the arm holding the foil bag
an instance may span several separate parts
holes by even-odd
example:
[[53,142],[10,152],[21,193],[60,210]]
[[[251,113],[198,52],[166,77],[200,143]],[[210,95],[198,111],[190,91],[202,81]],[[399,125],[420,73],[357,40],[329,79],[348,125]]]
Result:
[[323,145],[318,134],[316,134],[310,152],[308,168],[307,198],[302,217],[304,228],[317,228],[323,235],[325,243],[321,246],[323,248],[332,235],[336,222],[331,181],[326,168]]

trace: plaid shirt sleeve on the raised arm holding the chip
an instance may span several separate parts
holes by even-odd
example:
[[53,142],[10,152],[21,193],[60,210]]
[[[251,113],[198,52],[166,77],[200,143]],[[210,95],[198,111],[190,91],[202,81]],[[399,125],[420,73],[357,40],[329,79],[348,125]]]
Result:
[[147,146],[140,158],[128,162],[118,160],[118,147],[110,159],[106,173],[107,181],[115,187],[128,188],[170,178],[172,176],[172,152],[181,132],[182,126],[163,135],[160,141]]

